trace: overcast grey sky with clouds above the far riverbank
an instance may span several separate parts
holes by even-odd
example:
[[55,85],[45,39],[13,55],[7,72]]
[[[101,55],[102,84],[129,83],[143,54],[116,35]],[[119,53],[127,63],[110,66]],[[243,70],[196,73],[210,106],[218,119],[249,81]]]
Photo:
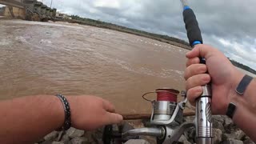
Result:
[[[40,0],[41,1],[41,0]],[[50,6],[51,0],[43,0]],[[189,0],[204,42],[256,70],[255,0]],[[168,34],[187,41],[179,0],[53,0],[63,13]]]

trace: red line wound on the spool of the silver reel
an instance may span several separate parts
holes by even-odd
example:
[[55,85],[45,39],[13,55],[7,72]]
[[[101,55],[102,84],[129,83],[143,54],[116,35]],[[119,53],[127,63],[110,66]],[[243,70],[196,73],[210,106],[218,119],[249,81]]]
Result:
[[168,101],[168,102],[177,102],[178,90],[174,89],[158,89],[156,90],[157,101]]

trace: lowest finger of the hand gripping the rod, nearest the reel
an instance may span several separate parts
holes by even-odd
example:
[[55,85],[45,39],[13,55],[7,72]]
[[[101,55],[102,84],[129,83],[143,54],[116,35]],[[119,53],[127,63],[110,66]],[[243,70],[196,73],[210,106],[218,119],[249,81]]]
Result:
[[202,94],[202,86],[196,86],[190,90],[187,90],[186,96],[190,104],[195,106],[196,99]]

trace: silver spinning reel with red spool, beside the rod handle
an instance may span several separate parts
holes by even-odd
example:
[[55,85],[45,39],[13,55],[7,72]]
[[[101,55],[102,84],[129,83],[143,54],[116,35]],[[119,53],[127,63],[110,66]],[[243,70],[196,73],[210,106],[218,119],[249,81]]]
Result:
[[[158,100],[149,100],[145,98],[146,94],[157,93]],[[177,142],[183,134],[184,130],[194,126],[194,122],[184,122],[183,110],[186,106],[186,94],[179,94],[178,90],[173,89],[158,89],[154,92],[146,93],[142,98],[151,102],[152,113],[150,118],[150,125],[152,127],[128,130],[122,134],[122,137],[130,135],[150,135],[157,138],[158,144],[170,144]],[[162,95],[161,95],[162,94]],[[181,102],[177,102],[177,95],[185,96]],[[168,98],[170,96],[170,98]],[[176,100],[176,102],[175,102]]]

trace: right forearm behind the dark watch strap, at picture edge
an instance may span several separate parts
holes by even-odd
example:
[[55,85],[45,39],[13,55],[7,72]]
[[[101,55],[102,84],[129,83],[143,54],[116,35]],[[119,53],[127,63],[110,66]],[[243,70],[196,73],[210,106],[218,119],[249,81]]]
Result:
[[247,87],[245,94],[234,94],[231,102],[237,106],[234,123],[237,124],[254,142],[256,142],[256,81],[255,78]]

